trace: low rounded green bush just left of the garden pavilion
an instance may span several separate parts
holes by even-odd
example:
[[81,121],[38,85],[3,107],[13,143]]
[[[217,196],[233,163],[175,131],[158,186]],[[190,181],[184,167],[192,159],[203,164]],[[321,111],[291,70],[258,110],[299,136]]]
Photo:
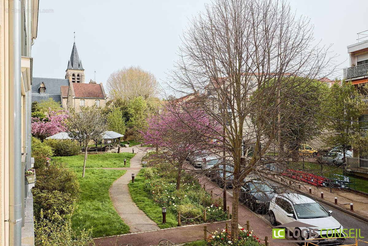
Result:
[[44,142],[53,149],[55,156],[73,156],[81,151],[78,143],[70,139],[46,139]]

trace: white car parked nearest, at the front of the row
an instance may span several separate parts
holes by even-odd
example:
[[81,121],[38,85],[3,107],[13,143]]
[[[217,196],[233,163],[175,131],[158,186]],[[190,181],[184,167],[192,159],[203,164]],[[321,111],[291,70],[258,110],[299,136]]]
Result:
[[[321,235],[327,238],[327,230],[321,229],[335,229],[338,232],[343,231],[343,226],[331,216],[332,211],[327,211],[321,204],[312,198],[305,195],[296,193],[283,193],[275,195],[271,202],[269,208],[270,222],[273,226],[278,224],[286,224],[294,221],[302,222],[308,225],[316,226],[315,233],[313,236],[321,245],[340,245],[343,243],[344,239],[341,239],[341,243],[336,243],[333,240],[321,239]],[[294,229],[299,230],[299,236],[296,240],[305,240],[309,237],[310,228],[307,227],[287,227],[291,231]],[[305,229],[305,230],[304,230]],[[330,230],[329,230],[330,231]],[[343,234],[344,235],[344,234]],[[346,235],[344,235],[346,236]],[[300,244],[304,245],[304,243]]]

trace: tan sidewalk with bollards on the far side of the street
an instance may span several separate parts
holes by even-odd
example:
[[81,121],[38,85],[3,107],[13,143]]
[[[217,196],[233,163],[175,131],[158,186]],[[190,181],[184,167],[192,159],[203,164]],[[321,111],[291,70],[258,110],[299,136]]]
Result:
[[[277,178],[277,177],[276,177]],[[275,178],[273,178],[275,179]],[[329,187],[316,187],[310,184],[306,184],[301,181],[294,179],[288,179],[283,177],[286,182],[291,180],[294,190],[298,191],[298,184],[301,184],[300,191],[307,193],[315,198],[321,199],[321,191],[323,192],[323,201],[326,201],[332,205],[338,206],[345,210],[350,211],[350,203],[353,203],[354,211],[351,211],[357,215],[360,215],[368,219],[368,197],[361,194],[354,194],[344,189],[332,188],[332,193],[330,193]],[[279,179],[280,182],[280,179]],[[286,184],[286,183],[285,183]],[[312,188],[312,194],[309,194],[309,187]],[[337,204],[335,204],[335,197],[337,197]]]

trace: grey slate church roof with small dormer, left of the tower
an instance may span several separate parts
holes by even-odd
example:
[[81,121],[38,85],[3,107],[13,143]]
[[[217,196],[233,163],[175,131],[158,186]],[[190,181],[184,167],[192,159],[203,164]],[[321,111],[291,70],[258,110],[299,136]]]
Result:
[[[45,84],[45,93],[39,92],[40,84],[43,82]],[[69,80],[67,79],[51,79],[51,78],[39,78],[33,77],[32,79],[32,101],[42,101],[47,100],[49,97],[53,98],[55,101],[61,103],[60,98],[60,87],[69,86]]]

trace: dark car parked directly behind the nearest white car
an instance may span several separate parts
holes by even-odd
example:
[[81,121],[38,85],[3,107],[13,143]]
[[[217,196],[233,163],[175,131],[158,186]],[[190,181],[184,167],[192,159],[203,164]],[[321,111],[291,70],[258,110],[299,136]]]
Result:
[[239,199],[254,212],[262,214],[268,212],[270,201],[275,196],[276,191],[260,180],[252,182],[244,180],[243,182]]

